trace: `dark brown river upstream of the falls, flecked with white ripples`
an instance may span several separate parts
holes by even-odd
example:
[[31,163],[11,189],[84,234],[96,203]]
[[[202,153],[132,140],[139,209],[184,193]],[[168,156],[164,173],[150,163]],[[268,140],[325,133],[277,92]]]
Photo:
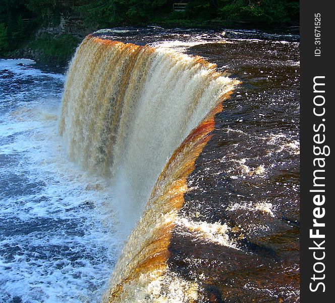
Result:
[[[156,28],[95,35],[201,56],[224,75],[242,81],[214,117],[210,138],[186,174],[183,201],[169,209],[178,212],[168,247],[161,246],[166,260],[147,270],[141,266],[150,264],[147,259],[127,263],[122,255],[109,301],[298,301],[298,37]],[[169,174],[171,169],[164,171]],[[152,197],[148,213],[150,204]],[[145,226],[142,221],[137,229]],[[129,242],[124,252],[131,254],[136,245]],[[158,251],[145,254],[154,256]],[[125,277],[122,268],[134,262],[133,273]],[[146,271],[154,278],[148,278]]]

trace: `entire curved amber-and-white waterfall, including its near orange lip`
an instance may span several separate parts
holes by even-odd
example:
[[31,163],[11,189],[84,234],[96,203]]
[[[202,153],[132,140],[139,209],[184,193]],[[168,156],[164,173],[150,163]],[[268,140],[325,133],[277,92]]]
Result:
[[110,178],[126,229],[138,221],[105,301],[144,301],[148,295],[169,301],[177,284],[182,301],[195,300],[197,286],[169,274],[167,247],[174,227],[183,224],[178,210],[186,178],[222,100],[238,83],[215,67],[171,49],[92,35],[77,49],[60,134],[72,161]]

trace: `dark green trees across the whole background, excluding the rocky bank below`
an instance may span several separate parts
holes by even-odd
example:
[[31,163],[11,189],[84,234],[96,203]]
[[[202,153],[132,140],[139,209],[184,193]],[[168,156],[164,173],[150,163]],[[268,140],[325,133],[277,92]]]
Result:
[[[173,12],[173,3],[187,3]],[[41,26],[77,15],[92,28],[115,26],[234,26],[299,22],[297,0],[1,0],[0,55],[20,48]]]

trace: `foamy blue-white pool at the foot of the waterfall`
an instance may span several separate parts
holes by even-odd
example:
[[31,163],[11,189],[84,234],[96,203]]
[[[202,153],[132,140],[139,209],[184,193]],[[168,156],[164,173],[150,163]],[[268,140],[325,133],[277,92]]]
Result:
[[36,80],[33,99],[6,92],[13,102],[0,114],[0,302],[97,302],[121,246],[108,181],[83,173],[63,151],[61,88],[38,83],[64,76],[22,72],[17,64],[33,67],[30,60],[0,63],[13,78]]

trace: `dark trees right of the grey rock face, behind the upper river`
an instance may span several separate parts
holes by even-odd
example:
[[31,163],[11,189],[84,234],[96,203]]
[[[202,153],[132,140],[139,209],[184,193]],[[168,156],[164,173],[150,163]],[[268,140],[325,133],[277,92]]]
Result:
[[[234,25],[299,22],[297,0],[84,0],[78,10],[87,25],[176,24]],[[187,3],[184,12],[173,12],[173,3]]]

